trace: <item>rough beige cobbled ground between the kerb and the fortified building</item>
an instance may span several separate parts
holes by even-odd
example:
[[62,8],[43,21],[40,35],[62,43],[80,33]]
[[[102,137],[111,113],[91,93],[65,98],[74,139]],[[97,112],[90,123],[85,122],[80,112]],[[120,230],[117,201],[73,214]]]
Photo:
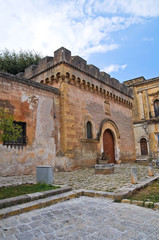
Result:
[[[73,189],[89,189],[97,191],[110,191],[122,187],[131,186],[130,175],[131,167],[138,168],[139,179],[147,177],[147,166],[137,164],[120,164],[115,165],[114,174],[110,175],[96,175],[94,169],[76,170],[73,172],[54,173],[54,185],[67,185]],[[155,169],[155,173],[159,174],[159,169]],[[0,185],[19,184],[25,182],[34,182],[35,176],[14,176],[14,177],[1,177]]]

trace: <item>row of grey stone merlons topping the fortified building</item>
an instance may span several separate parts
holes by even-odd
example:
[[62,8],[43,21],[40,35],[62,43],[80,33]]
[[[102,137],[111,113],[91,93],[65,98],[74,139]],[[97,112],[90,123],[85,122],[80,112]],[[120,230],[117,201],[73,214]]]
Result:
[[99,68],[96,66],[87,64],[87,61],[83,58],[79,56],[71,56],[71,52],[64,47],[56,50],[54,52],[54,57],[45,57],[38,62],[38,65],[31,65],[26,68],[23,77],[31,79],[49,68],[54,68],[56,65],[61,63],[68,64],[71,67],[95,78],[96,80],[109,85],[130,97],[133,97],[132,89],[120,83],[117,79],[111,78],[109,74],[100,72]]

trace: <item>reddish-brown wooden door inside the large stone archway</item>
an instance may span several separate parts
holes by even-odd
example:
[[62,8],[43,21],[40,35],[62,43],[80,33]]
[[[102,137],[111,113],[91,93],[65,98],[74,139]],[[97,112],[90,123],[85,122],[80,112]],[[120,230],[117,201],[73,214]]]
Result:
[[105,156],[108,157],[108,163],[115,163],[114,137],[109,129],[103,134],[103,150]]

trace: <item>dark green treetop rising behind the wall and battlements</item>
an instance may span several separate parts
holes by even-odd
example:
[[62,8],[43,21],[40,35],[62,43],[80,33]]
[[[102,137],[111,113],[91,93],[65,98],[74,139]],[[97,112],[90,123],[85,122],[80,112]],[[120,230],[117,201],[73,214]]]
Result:
[[37,64],[42,58],[35,51],[15,52],[8,49],[0,50],[0,71],[17,74],[24,72],[24,69],[32,64]]

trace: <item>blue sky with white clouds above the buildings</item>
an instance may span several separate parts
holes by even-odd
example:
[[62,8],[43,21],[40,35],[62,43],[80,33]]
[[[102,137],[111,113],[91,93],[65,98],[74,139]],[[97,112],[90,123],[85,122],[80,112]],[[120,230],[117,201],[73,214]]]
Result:
[[159,0],[0,0],[0,49],[61,46],[120,82],[159,76]]

